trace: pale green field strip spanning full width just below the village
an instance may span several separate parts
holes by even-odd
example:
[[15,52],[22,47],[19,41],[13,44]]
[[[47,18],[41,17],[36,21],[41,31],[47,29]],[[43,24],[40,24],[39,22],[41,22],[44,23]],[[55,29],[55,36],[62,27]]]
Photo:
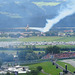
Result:
[[21,41],[21,42],[69,42],[69,41],[75,41],[75,37],[58,37],[58,36],[34,36],[34,37],[25,37],[25,38],[0,38],[0,41]]

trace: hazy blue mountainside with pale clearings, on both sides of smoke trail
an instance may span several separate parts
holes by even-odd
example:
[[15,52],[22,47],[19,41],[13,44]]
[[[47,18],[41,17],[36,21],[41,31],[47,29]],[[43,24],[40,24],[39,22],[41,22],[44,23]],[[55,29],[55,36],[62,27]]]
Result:
[[[64,0],[0,0],[0,28],[44,27],[53,19]],[[55,27],[74,26],[75,14],[64,18]]]

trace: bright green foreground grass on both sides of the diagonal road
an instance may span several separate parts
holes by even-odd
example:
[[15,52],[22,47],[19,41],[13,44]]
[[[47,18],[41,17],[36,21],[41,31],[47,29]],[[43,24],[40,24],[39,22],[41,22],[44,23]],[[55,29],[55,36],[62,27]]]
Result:
[[[61,62],[61,61],[57,61],[57,63],[59,65],[61,65],[62,67],[64,67],[64,68],[65,68],[65,64],[67,64],[67,63],[64,63],[64,62]],[[25,65],[23,65],[23,66],[25,66]],[[26,65],[26,66],[29,66],[31,70],[36,70],[37,66],[42,66],[44,72],[48,73],[50,75],[59,75],[59,72],[62,72],[61,69],[59,69],[59,68],[56,69],[56,66],[52,65],[51,62],[43,62],[43,63],[37,63],[37,64],[30,64],[30,65]],[[73,66],[71,66],[70,64],[67,64],[67,66],[68,66],[68,70],[70,70],[71,72],[75,71],[75,68]],[[27,75],[27,74],[19,74],[19,75]],[[38,75],[47,75],[47,74],[44,74],[44,73],[40,72]]]

